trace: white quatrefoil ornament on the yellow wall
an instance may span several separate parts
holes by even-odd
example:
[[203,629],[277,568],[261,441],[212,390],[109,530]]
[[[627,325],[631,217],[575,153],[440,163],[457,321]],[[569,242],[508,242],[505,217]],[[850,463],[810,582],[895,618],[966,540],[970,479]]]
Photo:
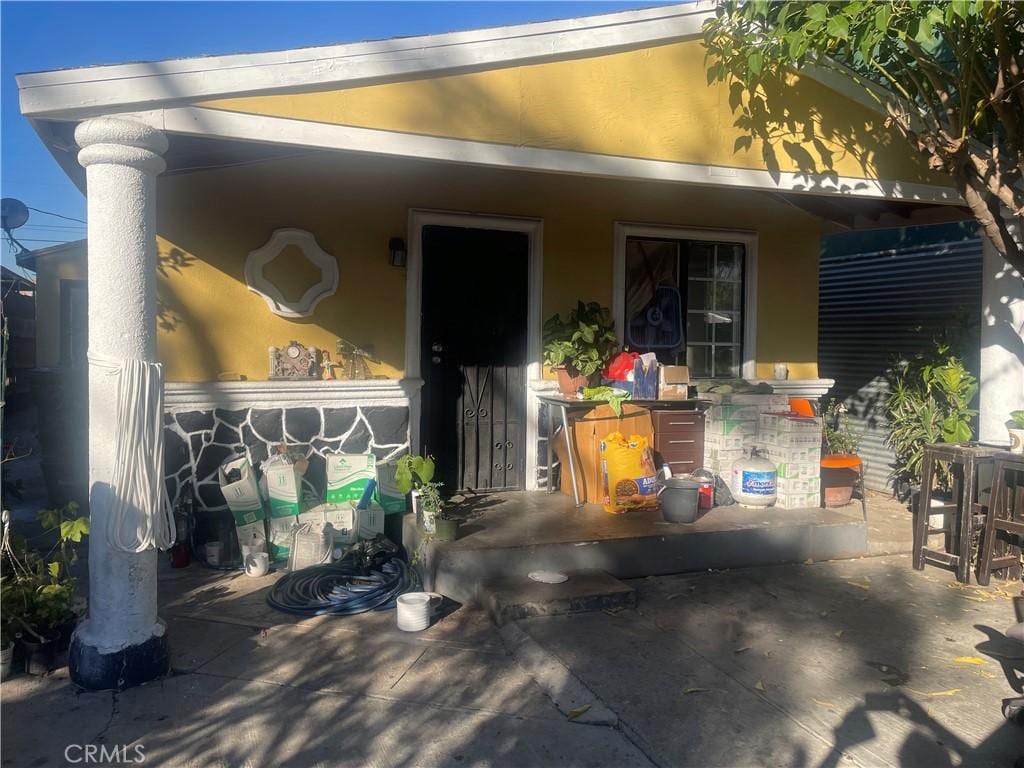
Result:
[[[298,299],[286,297],[285,292],[264,274],[264,267],[279,256],[286,258],[284,251],[290,247],[299,249],[319,272],[319,281],[307,288]],[[317,245],[310,232],[304,229],[274,229],[266,244],[246,258],[246,285],[250,291],[263,297],[274,314],[308,317],[319,302],[338,290],[338,262]]]

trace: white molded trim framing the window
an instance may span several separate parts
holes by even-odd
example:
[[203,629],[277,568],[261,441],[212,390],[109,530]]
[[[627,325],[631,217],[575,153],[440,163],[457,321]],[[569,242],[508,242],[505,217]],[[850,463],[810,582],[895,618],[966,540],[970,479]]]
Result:
[[741,243],[743,262],[743,362],[740,375],[757,378],[758,341],[758,233],[750,229],[699,229],[692,226],[635,224],[615,222],[615,251],[612,261],[611,316],[620,344],[626,334],[626,240],[627,238],[663,238],[665,240],[708,240],[716,243]]

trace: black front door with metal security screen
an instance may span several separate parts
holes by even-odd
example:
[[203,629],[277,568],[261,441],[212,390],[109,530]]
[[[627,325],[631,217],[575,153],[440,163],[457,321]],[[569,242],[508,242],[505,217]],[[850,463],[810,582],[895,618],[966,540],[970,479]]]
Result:
[[525,477],[529,238],[423,227],[420,442],[444,492]]

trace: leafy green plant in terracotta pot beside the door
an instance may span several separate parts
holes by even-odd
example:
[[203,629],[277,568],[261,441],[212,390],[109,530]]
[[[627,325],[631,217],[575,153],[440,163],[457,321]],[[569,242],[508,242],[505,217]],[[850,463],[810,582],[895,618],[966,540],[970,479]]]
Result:
[[581,301],[567,321],[555,314],[544,324],[544,364],[558,376],[559,391],[574,397],[581,388],[598,383],[617,343],[611,311],[596,301]]

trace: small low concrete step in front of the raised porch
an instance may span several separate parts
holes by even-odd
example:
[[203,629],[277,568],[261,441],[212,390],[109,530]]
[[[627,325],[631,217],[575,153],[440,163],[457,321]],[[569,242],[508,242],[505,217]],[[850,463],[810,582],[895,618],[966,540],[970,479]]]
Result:
[[499,627],[527,616],[636,607],[636,591],[610,573],[563,572],[568,579],[561,584],[536,582],[528,575],[485,581],[480,585],[481,602]]

